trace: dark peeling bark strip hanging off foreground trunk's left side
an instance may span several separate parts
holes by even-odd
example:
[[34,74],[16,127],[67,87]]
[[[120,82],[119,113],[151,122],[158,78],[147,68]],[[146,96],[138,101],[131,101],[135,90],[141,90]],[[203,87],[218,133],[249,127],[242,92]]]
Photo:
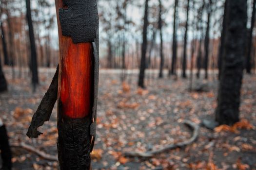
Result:
[[28,137],[37,138],[39,135],[41,135],[42,133],[38,131],[39,126],[42,126],[45,121],[48,121],[50,119],[54,104],[57,101],[58,79],[59,65],[57,67],[51,85],[43,96],[36,113],[34,113],[33,115],[31,124],[27,132]]

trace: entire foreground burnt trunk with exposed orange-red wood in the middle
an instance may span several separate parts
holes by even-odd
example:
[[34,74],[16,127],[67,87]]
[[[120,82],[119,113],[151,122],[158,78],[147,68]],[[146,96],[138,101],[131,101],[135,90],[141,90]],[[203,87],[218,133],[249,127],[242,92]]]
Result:
[[59,27],[59,166],[60,170],[89,170],[98,97],[97,3],[55,3]]

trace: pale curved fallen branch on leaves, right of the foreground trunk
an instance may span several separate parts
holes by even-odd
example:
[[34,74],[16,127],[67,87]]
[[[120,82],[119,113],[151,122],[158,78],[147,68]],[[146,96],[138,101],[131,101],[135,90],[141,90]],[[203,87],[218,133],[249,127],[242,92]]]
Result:
[[184,120],[183,123],[193,129],[193,135],[190,139],[183,141],[183,142],[176,143],[176,144],[167,145],[166,147],[163,147],[163,148],[155,150],[155,151],[149,151],[149,152],[145,152],[145,153],[127,152],[127,153],[124,153],[124,155],[127,157],[153,157],[156,154],[163,153],[168,150],[181,148],[181,147],[190,145],[197,139],[197,136],[199,135],[199,126],[196,123],[193,123],[189,120]]

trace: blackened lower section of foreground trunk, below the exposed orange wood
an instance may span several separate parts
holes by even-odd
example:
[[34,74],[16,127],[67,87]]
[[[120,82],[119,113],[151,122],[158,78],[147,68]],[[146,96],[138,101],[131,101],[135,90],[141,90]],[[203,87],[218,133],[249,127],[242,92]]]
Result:
[[[59,102],[61,109],[61,103]],[[90,119],[58,120],[58,155],[60,170],[89,170]]]

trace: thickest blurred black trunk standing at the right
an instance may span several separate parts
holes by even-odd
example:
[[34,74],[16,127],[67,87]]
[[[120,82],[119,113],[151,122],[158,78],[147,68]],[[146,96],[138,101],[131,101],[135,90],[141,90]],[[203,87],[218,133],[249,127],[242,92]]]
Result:
[[226,38],[216,110],[219,124],[232,125],[239,120],[246,23],[246,0],[227,0]]

